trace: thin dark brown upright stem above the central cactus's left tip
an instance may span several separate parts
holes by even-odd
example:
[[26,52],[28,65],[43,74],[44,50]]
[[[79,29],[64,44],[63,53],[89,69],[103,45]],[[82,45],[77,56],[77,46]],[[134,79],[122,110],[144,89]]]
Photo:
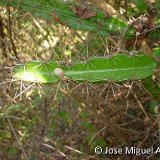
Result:
[[12,45],[12,49],[13,49],[14,55],[15,55],[15,57],[16,57],[17,59],[19,59],[18,53],[17,53],[17,50],[16,50],[16,46],[15,46],[14,41],[13,41],[13,35],[12,35],[12,20],[11,20],[10,7],[7,7],[7,11],[8,11],[8,29],[9,29],[10,41],[11,41],[11,45]]

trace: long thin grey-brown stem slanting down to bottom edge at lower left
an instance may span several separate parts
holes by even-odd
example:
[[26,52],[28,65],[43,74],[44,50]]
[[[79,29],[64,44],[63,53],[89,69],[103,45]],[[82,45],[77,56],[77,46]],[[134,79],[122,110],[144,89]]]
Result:
[[18,136],[17,136],[17,134],[16,134],[16,132],[15,132],[15,130],[14,130],[14,128],[13,128],[13,125],[12,125],[12,123],[11,123],[11,121],[10,121],[10,118],[9,118],[8,115],[7,115],[6,108],[5,108],[5,106],[3,105],[3,102],[2,102],[2,100],[1,100],[1,98],[0,98],[0,106],[1,106],[1,108],[2,108],[2,111],[3,111],[3,114],[4,114],[5,118],[6,118],[7,121],[8,121],[8,124],[9,124],[9,127],[10,127],[11,131],[13,132],[13,135],[15,136],[15,139],[16,139],[16,141],[17,141],[20,149],[22,150],[24,159],[25,159],[25,160],[29,160],[28,157],[27,157],[27,154],[26,154],[25,150],[23,149],[23,147],[22,147],[22,145],[21,145],[21,143],[20,143],[20,141],[19,141],[19,139],[18,139]]

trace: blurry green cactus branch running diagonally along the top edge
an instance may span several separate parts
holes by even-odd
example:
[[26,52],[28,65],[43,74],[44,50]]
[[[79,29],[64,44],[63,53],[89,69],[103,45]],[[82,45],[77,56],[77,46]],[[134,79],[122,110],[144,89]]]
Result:
[[72,9],[74,4],[60,0],[1,0],[0,5],[11,6],[51,22],[56,22],[57,20],[76,30],[96,32],[102,35],[120,35],[123,33],[126,39],[130,39],[135,35],[133,27],[129,27],[125,21],[119,18],[113,16],[106,17],[105,13],[94,9],[92,11],[93,16],[84,19],[75,14]]

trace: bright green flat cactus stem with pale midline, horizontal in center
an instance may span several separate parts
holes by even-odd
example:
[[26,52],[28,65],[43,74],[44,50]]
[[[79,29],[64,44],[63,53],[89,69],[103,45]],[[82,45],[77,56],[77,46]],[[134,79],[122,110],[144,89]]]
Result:
[[95,57],[88,62],[76,62],[70,67],[62,67],[55,61],[32,61],[17,67],[13,76],[30,82],[56,83],[61,77],[57,77],[54,70],[62,68],[66,77],[77,82],[119,82],[151,76],[156,66],[156,62],[146,55],[117,54],[110,58]]

